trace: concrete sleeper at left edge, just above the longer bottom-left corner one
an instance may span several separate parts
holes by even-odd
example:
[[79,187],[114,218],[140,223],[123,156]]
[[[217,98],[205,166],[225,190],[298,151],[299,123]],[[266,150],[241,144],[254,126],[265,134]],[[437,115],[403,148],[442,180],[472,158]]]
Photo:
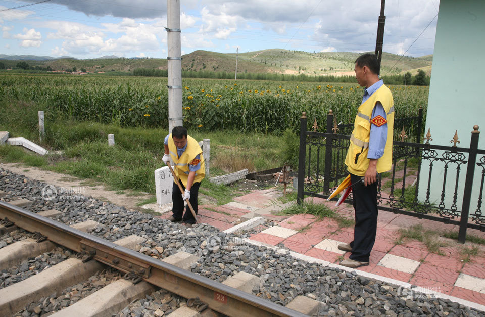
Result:
[[54,243],[27,238],[0,249],[0,270],[17,266],[29,257],[36,257],[55,248]]

